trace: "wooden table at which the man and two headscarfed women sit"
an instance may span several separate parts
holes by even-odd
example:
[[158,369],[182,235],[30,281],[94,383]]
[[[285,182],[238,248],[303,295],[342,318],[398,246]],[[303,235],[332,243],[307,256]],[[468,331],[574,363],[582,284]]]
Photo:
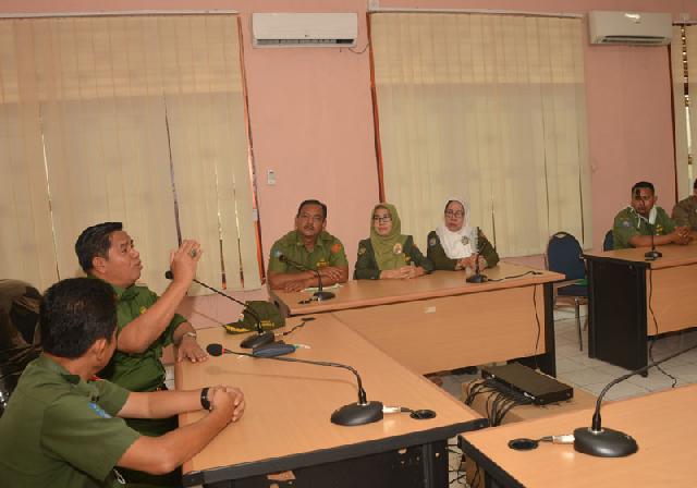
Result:
[[436,271],[415,280],[348,281],[326,302],[301,303],[309,296],[304,292],[271,295],[286,316],[332,313],[421,375],[527,358],[555,376],[552,282],[564,276],[510,263],[485,274],[525,276],[472,284],[465,271]]

